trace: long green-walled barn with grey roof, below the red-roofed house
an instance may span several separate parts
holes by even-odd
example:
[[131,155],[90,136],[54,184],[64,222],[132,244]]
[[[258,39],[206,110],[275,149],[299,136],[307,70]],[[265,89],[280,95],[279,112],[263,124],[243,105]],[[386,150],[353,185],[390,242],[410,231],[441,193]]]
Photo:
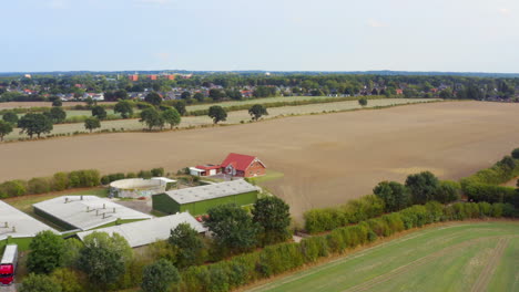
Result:
[[212,207],[223,204],[245,206],[254,204],[260,188],[247,181],[232,180],[214,185],[170,190],[153,195],[153,209],[165,213],[189,211],[191,215],[206,213]]

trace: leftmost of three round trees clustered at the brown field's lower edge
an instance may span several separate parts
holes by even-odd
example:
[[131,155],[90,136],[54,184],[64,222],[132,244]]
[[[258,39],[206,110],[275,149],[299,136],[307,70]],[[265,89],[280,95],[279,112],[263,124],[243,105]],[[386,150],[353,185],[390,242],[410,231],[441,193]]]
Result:
[[384,200],[386,211],[401,210],[411,202],[410,191],[397,181],[381,181],[373,189],[373,192]]

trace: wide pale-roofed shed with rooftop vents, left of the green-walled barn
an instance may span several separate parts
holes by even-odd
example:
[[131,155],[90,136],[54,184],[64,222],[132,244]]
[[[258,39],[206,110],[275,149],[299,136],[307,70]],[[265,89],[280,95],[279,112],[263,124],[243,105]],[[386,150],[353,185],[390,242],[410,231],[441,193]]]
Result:
[[67,230],[89,230],[152,216],[96,196],[62,196],[32,205],[34,212]]

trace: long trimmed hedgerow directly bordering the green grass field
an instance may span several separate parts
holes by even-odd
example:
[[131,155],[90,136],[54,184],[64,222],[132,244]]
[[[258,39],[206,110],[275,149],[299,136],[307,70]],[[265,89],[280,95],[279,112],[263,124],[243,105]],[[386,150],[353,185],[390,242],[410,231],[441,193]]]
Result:
[[343,254],[347,250],[403,230],[440,221],[512,216],[516,216],[515,209],[509,204],[456,202],[444,207],[430,201],[355,226],[336,228],[328,234],[306,238],[299,243],[278,243],[214,264],[190,267],[181,273],[182,280],[175,291],[231,291],[314,263],[330,254]]

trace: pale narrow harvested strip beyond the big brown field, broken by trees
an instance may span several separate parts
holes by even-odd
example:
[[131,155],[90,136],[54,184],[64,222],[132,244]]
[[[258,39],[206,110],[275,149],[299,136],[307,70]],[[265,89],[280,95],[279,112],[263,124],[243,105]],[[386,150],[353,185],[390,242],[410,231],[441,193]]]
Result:
[[[275,97],[272,97],[275,98]],[[281,97],[279,97],[281,98]],[[370,100],[366,107],[375,106],[391,106],[399,104],[411,104],[411,103],[424,103],[438,100],[427,100],[427,98],[385,98],[385,100]],[[357,101],[347,101],[347,102],[337,102],[337,103],[325,103],[325,104],[308,104],[308,105],[298,105],[298,106],[283,106],[283,107],[273,107],[268,108],[269,115],[264,116],[264,119],[275,118],[281,116],[289,115],[305,115],[305,114],[317,114],[323,112],[339,112],[339,111],[349,111],[358,109],[362,106]],[[112,109],[106,111],[108,114],[113,114]],[[90,111],[68,111],[68,116],[74,115],[90,115]],[[248,111],[235,111],[230,112],[227,121],[222,122],[221,124],[240,124],[241,122],[251,121],[251,115]],[[182,117],[182,123],[179,127],[193,127],[201,125],[212,125],[213,121],[208,116],[186,116]],[[101,122],[100,131],[142,131],[145,126],[139,122],[138,118],[131,119],[115,119],[115,121],[103,121]],[[51,134],[72,134],[74,132],[86,132],[84,128],[84,123],[73,123],[73,124],[61,124],[54,125],[54,129]],[[20,134],[20,129],[16,128],[11,134],[6,136],[6,140],[16,140],[19,138],[28,137],[24,134]]]

